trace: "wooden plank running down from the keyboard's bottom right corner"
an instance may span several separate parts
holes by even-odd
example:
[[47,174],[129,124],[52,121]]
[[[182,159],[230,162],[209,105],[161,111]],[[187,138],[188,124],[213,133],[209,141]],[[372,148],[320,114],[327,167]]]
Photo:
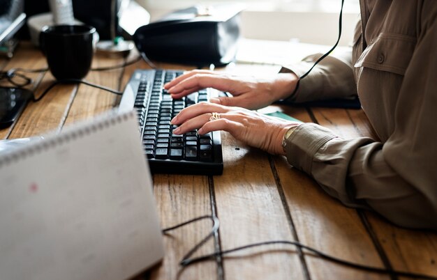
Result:
[[[267,155],[222,132],[222,176],[214,177],[221,246],[232,249],[270,240],[292,240]],[[304,279],[295,248],[258,247],[224,257],[226,279]]]

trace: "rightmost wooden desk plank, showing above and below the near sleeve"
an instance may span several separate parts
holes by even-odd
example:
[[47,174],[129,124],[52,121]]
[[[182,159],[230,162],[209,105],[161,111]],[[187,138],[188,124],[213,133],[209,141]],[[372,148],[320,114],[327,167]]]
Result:
[[[336,124],[348,120],[350,126],[355,127],[355,129],[342,130],[343,137],[369,136],[376,138],[362,110],[318,109],[314,111],[314,114],[318,119],[328,119],[329,122],[323,122],[323,125],[332,128],[337,133],[339,130],[336,129]],[[320,118],[320,116],[324,117]],[[378,242],[382,245],[394,270],[437,277],[436,233],[399,228],[371,212],[366,212],[366,217],[369,218],[371,228],[376,233]]]

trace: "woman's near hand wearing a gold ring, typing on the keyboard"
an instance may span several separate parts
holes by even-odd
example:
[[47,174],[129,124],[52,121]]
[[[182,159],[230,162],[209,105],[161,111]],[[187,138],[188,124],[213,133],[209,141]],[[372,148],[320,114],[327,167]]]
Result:
[[[213,119],[218,113],[218,118]],[[211,120],[210,120],[211,119]],[[285,155],[282,139],[286,131],[300,123],[274,118],[237,107],[200,102],[183,109],[172,124],[179,125],[173,133],[184,134],[198,129],[199,134],[224,130],[235,139],[274,155]]]

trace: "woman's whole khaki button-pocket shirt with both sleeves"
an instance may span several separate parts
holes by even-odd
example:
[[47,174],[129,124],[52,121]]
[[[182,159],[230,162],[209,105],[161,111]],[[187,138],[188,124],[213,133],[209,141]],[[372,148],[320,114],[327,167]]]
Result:
[[[349,54],[328,56],[292,102],[358,94],[380,140],[305,123],[288,162],[346,205],[401,226],[437,229],[437,1],[361,0]],[[320,54],[283,68],[301,76]]]

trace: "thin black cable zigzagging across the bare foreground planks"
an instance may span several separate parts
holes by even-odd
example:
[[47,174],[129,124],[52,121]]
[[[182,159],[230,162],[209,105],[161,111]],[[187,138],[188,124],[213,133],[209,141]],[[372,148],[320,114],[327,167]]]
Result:
[[193,247],[193,249],[191,249],[188,254],[186,254],[181,262],[179,263],[179,265],[182,265],[182,267],[187,267],[188,265],[192,265],[193,263],[200,263],[204,260],[210,260],[210,259],[214,259],[216,258],[216,256],[222,256],[224,254],[230,254],[232,252],[235,251],[241,251],[244,249],[249,249],[249,248],[253,248],[253,247],[259,247],[262,245],[269,245],[269,244],[290,244],[290,245],[294,245],[296,247],[302,248],[302,249],[306,249],[308,251],[311,251],[313,254],[316,254],[316,256],[319,256],[320,258],[323,258],[325,260],[329,260],[333,263],[338,263],[340,265],[345,265],[348,267],[353,267],[357,270],[365,270],[368,272],[375,272],[375,273],[379,273],[379,274],[396,274],[398,277],[409,277],[409,278],[416,278],[416,279],[429,279],[429,280],[437,280],[437,277],[432,277],[429,275],[424,275],[424,274],[417,274],[417,273],[411,273],[411,272],[401,272],[398,270],[387,270],[385,268],[379,268],[379,267],[371,267],[368,265],[361,265],[359,263],[353,263],[350,262],[348,260],[342,260],[341,258],[336,258],[334,256],[330,256],[328,254],[323,253],[323,251],[319,251],[318,249],[313,249],[312,247],[306,246],[305,244],[302,244],[301,242],[296,242],[296,241],[289,241],[289,240],[272,240],[272,241],[266,241],[266,242],[258,242],[258,243],[253,243],[253,244],[247,244],[244,245],[242,247],[236,247],[233,249],[228,249],[228,250],[224,250],[224,251],[216,251],[213,254],[208,254],[205,256],[200,256],[197,258],[189,258],[192,254],[194,254],[195,251],[198,250],[198,248],[200,246],[202,246],[202,244],[205,244],[205,242],[207,240],[209,240],[209,238],[211,238],[214,233],[216,233],[216,231],[218,231],[218,219],[217,217],[213,217],[213,216],[202,216],[202,217],[198,217],[195,219],[191,219],[189,221],[185,221],[182,224],[178,224],[176,226],[172,226],[170,228],[165,228],[163,229],[163,233],[167,233],[168,231],[172,231],[175,230],[176,228],[179,228],[181,226],[185,226],[186,224],[191,224],[194,221],[198,221],[200,219],[212,219],[214,221],[214,226],[212,228],[212,232],[209,233],[209,235],[207,235],[206,238],[204,238],[201,242],[199,242],[198,244],[195,245],[195,247]]

